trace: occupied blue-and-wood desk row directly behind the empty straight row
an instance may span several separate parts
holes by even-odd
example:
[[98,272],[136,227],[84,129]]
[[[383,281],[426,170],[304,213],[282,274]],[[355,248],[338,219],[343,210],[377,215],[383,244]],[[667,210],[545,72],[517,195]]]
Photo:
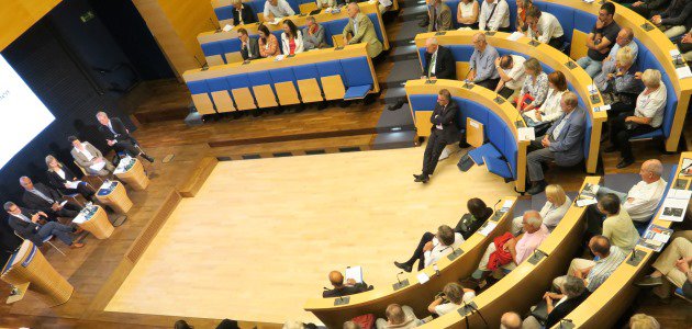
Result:
[[[263,2],[264,3],[264,2]],[[389,41],[387,38],[387,33],[384,33],[384,24],[382,23],[382,16],[379,13],[379,9],[377,3],[362,2],[359,3],[360,11],[368,15],[370,21],[372,21],[372,25],[375,26],[375,32],[377,33],[378,38],[382,42],[382,47],[387,50],[389,49]],[[298,25],[299,29],[303,29],[305,26],[305,15],[294,15],[289,19]],[[344,32],[344,27],[348,23],[348,15],[346,14],[346,10],[342,10],[338,13],[320,13],[314,15],[315,21],[322,26],[324,26],[324,41],[333,46],[332,36],[341,37]],[[238,61],[241,58],[241,41],[237,38],[237,29],[244,27],[252,36],[257,36],[257,26],[259,24],[246,24],[235,26],[233,30],[228,32],[205,32],[200,33],[197,36],[198,42],[202,46],[202,52],[207,57],[208,63],[211,65],[217,65],[223,63],[233,63]],[[281,41],[282,24],[279,23],[277,25],[267,24],[267,27],[271,31],[274,35]]]

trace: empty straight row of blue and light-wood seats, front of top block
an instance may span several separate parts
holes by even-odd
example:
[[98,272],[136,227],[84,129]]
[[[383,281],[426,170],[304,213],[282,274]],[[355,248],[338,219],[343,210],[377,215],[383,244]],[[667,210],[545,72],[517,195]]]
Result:
[[254,60],[182,75],[200,114],[362,99],[379,92],[365,44]]

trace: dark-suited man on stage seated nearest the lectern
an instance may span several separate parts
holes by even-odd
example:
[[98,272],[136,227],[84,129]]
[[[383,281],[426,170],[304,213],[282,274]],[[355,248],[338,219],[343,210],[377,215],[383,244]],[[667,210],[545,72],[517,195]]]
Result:
[[38,247],[41,247],[43,240],[49,236],[55,236],[70,248],[81,248],[85,246],[80,242],[72,242],[72,238],[69,234],[76,231],[76,229],[67,225],[57,222],[48,222],[44,225],[38,224],[41,216],[47,217],[44,212],[20,208],[13,202],[5,202],[4,211],[10,214],[8,217],[10,227],[22,238],[34,242],[34,245]]

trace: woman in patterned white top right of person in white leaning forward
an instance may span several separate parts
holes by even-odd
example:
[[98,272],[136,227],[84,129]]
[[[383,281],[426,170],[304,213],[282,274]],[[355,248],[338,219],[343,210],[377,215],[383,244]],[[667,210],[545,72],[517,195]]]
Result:
[[532,57],[524,63],[526,79],[520,91],[516,111],[520,113],[540,107],[548,94],[548,75],[543,71],[538,59]]

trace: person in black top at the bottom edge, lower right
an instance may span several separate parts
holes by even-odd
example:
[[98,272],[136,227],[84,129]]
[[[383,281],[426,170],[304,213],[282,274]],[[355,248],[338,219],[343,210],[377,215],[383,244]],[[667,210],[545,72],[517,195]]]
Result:
[[[542,300],[542,303],[546,304],[546,311],[537,311],[535,306],[532,307],[534,315],[524,320],[522,328],[553,328],[553,326],[557,325],[588,297],[589,291],[587,291],[584,286],[584,281],[577,276],[569,275],[560,286],[559,294],[547,292],[543,295],[545,302]],[[538,313],[540,313],[540,316],[538,316]],[[543,316],[546,317],[543,318]],[[540,317],[540,319],[538,317]]]

